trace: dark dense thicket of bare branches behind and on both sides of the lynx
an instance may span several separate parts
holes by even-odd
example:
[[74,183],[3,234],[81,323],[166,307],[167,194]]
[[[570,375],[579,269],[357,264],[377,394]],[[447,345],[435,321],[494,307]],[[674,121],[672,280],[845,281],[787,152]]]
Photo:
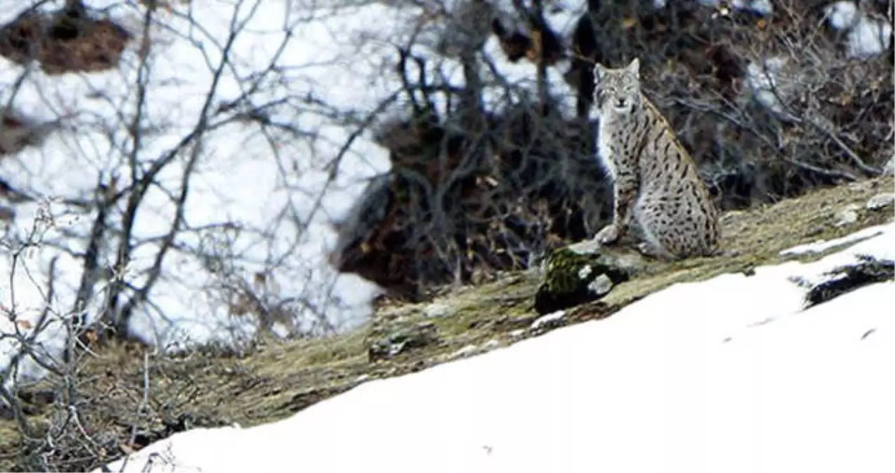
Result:
[[[481,2],[445,6],[440,21],[467,4]],[[591,237],[609,199],[593,159],[595,62],[618,67],[641,58],[646,92],[723,209],[874,175],[891,153],[889,55],[850,59],[843,44],[857,16],[831,28],[827,3],[784,0],[768,14],[725,4],[591,0],[567,37],[545,20],[562,5],[512,6],[512,21],[489,11],[490,33],[502,60],[533,63],[534,92],[504,80],[482,40],[454,41],[467,47],[462,87],[408,72],[415,45],[398,48],[396,73],[411,117],[382,125],[379,143],[394,169],[340,225],[331,260],[342,271],[417,298],[431,285],[524,267],[550,245]],[[865,8],[877,6],[878,17],[884,5]],[[550,69],[564,74],[575,110],[560,113],[566,86],[550,83]],[[501,97],[489,100],[483,83]],[[440,113],[429,100],[435,94],[448,104]]]

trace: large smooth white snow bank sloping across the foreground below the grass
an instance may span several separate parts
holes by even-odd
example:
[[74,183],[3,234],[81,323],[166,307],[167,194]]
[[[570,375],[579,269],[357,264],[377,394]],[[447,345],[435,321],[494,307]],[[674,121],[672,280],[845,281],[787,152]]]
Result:
[[895,258],[895,224],[880,230],[813,263],[676,284],[613,317],[368,381],[279,422],[176,434],[109,468],[888,472],[895,283],[805,309],[791,281]]

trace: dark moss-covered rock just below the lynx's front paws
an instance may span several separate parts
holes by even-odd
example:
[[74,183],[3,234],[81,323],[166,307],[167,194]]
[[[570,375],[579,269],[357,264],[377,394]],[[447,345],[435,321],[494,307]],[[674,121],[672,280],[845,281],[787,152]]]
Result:
[[534,310],[550,314],[563,308],[599,300],[619,283],[644,270],[643,256],[622,249],[582,241],[550,253],[542,265],[542,279],[534,295]]

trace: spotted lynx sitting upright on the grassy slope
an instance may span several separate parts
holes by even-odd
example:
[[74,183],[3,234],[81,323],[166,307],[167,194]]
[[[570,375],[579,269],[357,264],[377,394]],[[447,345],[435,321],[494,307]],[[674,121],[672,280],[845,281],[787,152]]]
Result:
[[612,178],[614,200],[612,223],[594,239],[618,241],[633,218],[642,232],[637,248],[644,255],[718,254],[718,210],[669,122],[641,92],[639,60],[618,69],[598,63],[593,73],[600,114],[597,152]]

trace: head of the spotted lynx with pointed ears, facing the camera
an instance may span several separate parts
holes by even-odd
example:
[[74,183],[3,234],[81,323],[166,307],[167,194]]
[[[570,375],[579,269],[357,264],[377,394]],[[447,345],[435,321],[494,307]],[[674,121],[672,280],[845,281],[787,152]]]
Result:
[[618,69],[597,63],[593,67],[593,81],[593,102],[601,116],[621,118],[640,106],[640,61],[637,58]]

